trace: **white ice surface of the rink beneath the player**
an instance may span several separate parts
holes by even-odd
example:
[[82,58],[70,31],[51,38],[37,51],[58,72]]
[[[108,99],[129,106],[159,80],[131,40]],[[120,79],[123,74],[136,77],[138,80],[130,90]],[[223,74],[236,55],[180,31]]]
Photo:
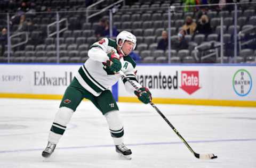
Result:
[[256,167],[256,108],[157,107],[197,153],[195,158],[150,105],[118,103],[132,159],[115,152],[105,117],[82,102],[51,158],[42,150],[60,100],[0,99],[0,167]]

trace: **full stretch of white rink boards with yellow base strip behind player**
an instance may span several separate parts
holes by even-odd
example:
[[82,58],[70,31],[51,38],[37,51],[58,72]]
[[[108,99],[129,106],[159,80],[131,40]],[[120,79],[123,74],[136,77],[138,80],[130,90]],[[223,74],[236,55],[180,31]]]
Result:
[[[61,99],[81,64],[0,64],[0,97]],[[154,103],[256,106],[255,64],[138,65]],[[110,88],[111,89],[111,88]],[[138,102],[119,81],[119,102]]]

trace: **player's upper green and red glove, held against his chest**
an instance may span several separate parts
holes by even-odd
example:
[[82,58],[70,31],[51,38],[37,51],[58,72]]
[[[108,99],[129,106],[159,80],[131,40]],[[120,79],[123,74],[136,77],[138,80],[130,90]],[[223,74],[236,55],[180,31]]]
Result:
[[108,53],[109,61],[107,61],[107,65],[109,69],[115,73],[119,72],[122,68],[122,64],[119,61],[119,56],[115,54],[115,52]]

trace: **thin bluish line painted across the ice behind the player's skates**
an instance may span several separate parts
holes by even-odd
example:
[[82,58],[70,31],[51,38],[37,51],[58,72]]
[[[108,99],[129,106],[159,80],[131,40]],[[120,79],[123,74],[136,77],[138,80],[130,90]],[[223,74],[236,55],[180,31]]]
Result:
[[[189,144],[195,143],[211,143],[211,142],[241,142],[241,141],[256,141],[256,138],[251,139],[219,139],[219,140],[195,140],[188,141]],[[139,144],[126,144],[127,146],[145,146],[145,145],[170,145],[170,144],[183,144],[183,142],[148,142]],[[113,147],[114,145],[87,145],[87,146],[77,146],[77,147],[60,147],[57,149],[84,149],[84,148],[101,148],[101,147]],[[1,153],[18,153],[18,152],[30,152],[44,150],[42,148],[35,149],[18,149],[18,150],[0,150]]]

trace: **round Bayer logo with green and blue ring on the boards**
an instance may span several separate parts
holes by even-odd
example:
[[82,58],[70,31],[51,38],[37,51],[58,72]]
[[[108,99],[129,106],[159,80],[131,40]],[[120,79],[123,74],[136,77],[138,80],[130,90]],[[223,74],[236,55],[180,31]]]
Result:
[[246,96],[252,89],[252,77],[244,69],[236,71],[233,77],[233,89],[238,96]]

